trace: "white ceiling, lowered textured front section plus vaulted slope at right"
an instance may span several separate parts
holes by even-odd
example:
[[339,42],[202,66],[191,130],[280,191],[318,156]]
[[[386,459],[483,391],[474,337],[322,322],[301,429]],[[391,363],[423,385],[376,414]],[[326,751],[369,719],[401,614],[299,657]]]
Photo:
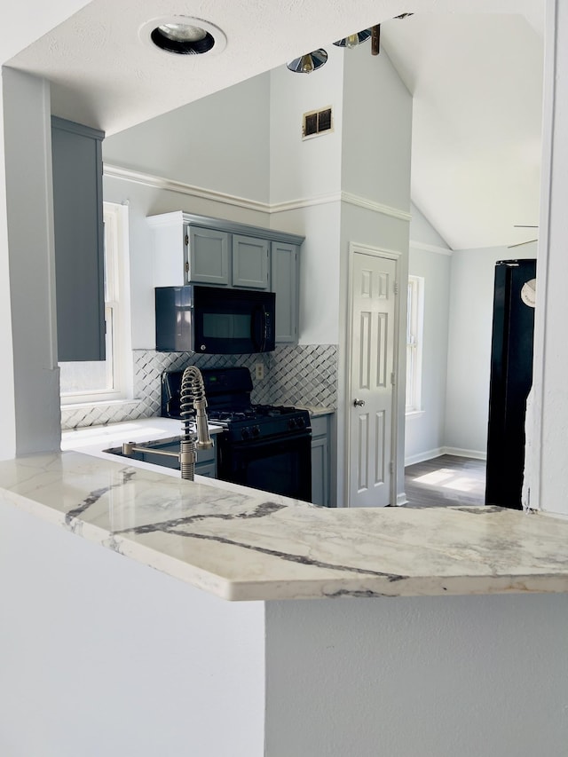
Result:
[[[414,94],[414,202],[454,248],[523,241],[525,233],[512,226],[538,223],[543,0],[414,0],[412,7],[399,0],[94,0],[82,6],[54,0],[53,24],[76,12],[46,34],[47,6],[38,0],[3,10],[0,59],[48,78],[54,113],[109,135],[414,12],[385,24],[382,34],[384,50]],[[26,10],[34,23],[22,27]],[[468,12],[477,15],[457,15]],[[172,13],[222,28],[225,51],[179,57],[141,42],[140,28]]]

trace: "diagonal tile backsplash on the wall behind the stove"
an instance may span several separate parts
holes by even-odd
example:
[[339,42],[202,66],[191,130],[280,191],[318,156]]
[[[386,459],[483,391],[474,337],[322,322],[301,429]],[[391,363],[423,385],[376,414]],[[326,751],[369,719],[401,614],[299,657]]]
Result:
[[[193,352],[135,350],[134,396],[128,402],[63,406],[61,427],[76,429],[160,414],[161,376],[164,371],[246,366],[253,378],[251,399],[264,405],[337,406],[337,346],[308,344],[280,346],[253,355],[197,355]],[[256,381],[255,366],[264,365],[264,379]]]

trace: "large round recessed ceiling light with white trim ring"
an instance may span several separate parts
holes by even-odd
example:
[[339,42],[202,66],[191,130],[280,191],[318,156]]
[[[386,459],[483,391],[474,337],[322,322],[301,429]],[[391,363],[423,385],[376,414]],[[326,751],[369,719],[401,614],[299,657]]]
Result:
[[139,31],[140,39],[175,55],[201,55],[225,50],[226,37],[209,21],[190,16],[163,16],[148,21]]

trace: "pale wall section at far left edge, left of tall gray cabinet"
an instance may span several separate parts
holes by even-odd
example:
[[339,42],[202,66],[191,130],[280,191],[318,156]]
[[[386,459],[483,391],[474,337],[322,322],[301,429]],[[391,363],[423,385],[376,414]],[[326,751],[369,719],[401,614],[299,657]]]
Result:
[[[59,449],[51,103],[49,83],[2,70],[13,338],[12,406],[3,420],[18,454]],[[5,280],[8,283],[8,280]],[[5,302],[5,301],[4,301]],[[12,427],[13,428],[13,427]]]

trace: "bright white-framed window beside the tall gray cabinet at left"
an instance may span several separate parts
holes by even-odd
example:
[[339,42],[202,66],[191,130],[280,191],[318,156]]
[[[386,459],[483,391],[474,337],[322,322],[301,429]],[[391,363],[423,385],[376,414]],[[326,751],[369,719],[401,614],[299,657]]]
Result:
[[128,396],[131,383],[128,296],[128,209],[103,203],[105,225],[106,360],[59,363],[61,404],[108,402]]

